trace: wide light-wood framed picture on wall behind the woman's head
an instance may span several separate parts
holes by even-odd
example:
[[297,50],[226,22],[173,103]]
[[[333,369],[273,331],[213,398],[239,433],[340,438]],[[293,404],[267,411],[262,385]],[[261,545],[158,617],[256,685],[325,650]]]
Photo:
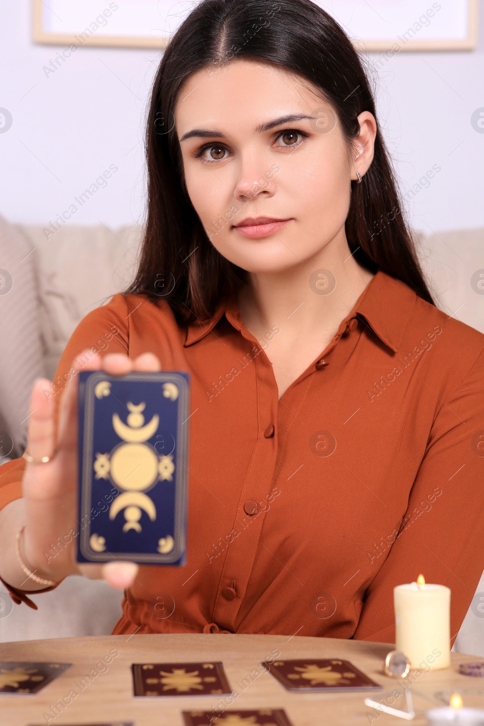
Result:
[[[194,0],[32,0],[33,41],[164,48]],[[478,0],[316,0],[358,50],[472,50]],[[398,48],[397,48],[398,46]]]

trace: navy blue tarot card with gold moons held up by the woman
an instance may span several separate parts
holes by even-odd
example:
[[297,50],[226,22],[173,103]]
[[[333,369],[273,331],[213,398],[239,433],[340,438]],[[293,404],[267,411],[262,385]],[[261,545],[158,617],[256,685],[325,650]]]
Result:
[[189,375],[79,373],[78,562],[184,564]]

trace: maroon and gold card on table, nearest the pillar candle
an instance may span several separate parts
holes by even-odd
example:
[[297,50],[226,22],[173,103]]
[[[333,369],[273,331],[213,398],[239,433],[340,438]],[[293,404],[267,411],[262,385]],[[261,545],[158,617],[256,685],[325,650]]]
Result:
[[337,658],[274,661],[274,663],[265,665],[287,690],[305,692],[381,690],[383,688],[349,661],[340,661]]

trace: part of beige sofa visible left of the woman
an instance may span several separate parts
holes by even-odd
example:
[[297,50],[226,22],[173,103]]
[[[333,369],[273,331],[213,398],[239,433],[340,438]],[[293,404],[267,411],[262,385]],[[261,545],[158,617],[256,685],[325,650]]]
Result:
[[[0,463],[25,448],[33,381],[52,378],[78,322],[127,287],[140,235],[140,228],[112,232],[103,225],[49,234],[43,227],[14,227],[0,218]],[[1,280],[12,284],[7,294]],[[12,608],[2,587],[0,643],[109,634],[121,614],[122,593],[83,577],[68,577],[57,590],[33,595],[38,611]]]

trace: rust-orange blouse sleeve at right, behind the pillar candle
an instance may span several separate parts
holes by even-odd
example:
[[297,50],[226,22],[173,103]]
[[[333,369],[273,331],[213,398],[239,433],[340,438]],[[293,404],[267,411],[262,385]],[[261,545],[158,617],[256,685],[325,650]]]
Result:
[[[427,386],[424,395],[434,394]],[[440,393],[406,515],[366,590],[353,637],[395,643],[393,587],[422,573],[451,589],[454,643],[483,574],[483,531],[484,351],[460,386]]]

